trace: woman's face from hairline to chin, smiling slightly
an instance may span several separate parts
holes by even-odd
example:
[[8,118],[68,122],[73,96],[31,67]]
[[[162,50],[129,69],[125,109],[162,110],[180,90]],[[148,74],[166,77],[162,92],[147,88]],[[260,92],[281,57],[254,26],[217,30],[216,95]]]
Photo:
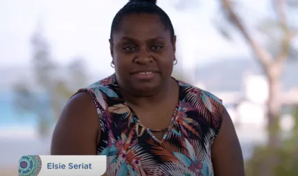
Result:
[[119,85],[150,94],[168,83],[175,59],[175,41],[158,15],[123,17],[110,41]]

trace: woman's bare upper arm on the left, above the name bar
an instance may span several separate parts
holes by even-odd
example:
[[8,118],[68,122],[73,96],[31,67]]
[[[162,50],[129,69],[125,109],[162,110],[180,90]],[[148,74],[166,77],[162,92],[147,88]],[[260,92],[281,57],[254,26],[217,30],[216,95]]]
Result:
[[87,92],[69,99],[53,132],[51,155],[96,155],[98,115]]

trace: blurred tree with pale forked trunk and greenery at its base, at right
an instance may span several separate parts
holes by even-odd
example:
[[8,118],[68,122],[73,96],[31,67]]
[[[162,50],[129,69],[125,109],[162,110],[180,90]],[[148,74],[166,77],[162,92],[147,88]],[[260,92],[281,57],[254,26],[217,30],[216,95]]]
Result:
[[[294,150],[286,148],[284,139],[280,137],[279,121],[284,100],[281,97],[281,75],[286,61],[297,59],[298,52],[294,39],[298,35],[297,17],[298,1],[274,0],[270,1],[274,15],[263,17],[256,26],[248,26],[243,14],[245,6],[239,1],[220,0],[220,13],[223,19],[216,23],[216,27],[225,39],[233,40],[231,33],[238,30],[247,41],[248,46],[261,64],[263,72],[268,79],[268,145],[256,147],[254,156],[247,164],[247,175],[297,175],[297,157],[293,157]],[[241,10],[241,11],[240,11]],[[243,14],[243,16],[241,16]],[[295,22],[296,21],[296,22]],[[252,31],[258,35],[252,35]],[[265,41],[261,43],[260,41]],[[293,133],[297,133],[293,131]],[[297,142],[293,148],[298,148]]]

